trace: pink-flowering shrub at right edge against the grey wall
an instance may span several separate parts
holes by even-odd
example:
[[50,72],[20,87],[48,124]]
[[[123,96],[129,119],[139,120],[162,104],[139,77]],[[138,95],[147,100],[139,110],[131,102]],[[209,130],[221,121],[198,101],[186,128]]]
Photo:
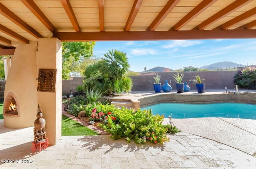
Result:
[[246,67],[234,76],[234,83],[240,88],[256,89],[256,68]]

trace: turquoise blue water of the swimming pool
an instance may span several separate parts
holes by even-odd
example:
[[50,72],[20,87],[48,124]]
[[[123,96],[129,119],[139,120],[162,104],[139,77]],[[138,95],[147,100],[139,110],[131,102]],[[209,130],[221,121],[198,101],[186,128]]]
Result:
[[216,104],[181,104],[163,103],[141,108],[152,110],[153,114],[164,115],[168,118],[199,118],[199,117],[228,117],[247,118],[256,120],[256,105],[240,103],[216,103]]

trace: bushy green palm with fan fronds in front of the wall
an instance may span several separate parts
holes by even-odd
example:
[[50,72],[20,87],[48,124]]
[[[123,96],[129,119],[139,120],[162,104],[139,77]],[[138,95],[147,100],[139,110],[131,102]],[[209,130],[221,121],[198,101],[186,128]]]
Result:
[[104,95],[126,92],[132,88],[132,79],[126,77],[128,58],[122,51],[112,50],[104,54],[104,57],[84,71],[84,88],[101,90]]

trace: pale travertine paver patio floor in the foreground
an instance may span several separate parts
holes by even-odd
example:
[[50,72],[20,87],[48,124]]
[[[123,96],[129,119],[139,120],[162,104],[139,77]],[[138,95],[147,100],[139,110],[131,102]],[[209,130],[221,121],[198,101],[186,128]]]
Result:
[[[162,144],[136,145],[124,139],[102,136],[62,136],[57,145],[40,153],[30,149],[33,127],[4,128],[0,120],[0,168],[26,169],[254,169],[252,155],[199,136],[187,133],[170,135]],[[17,163],[16,159],[26,159]],[[30,160],[30,161],[28,161]],[[26,163],[25,163],[26,162]],[[29,163],[28,163],[29,162]]]

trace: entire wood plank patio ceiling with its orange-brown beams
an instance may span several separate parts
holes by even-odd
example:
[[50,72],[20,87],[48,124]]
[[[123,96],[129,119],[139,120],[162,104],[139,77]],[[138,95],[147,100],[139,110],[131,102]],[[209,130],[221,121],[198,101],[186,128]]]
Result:
[[40,37],[256,38],[256,0],[0,0],[0,48]]

